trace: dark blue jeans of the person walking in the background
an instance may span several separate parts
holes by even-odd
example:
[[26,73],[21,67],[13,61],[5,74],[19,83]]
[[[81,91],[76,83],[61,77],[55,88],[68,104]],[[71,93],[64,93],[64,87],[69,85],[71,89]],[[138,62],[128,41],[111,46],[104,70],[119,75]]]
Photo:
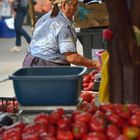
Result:
[[14,22],[15,32],[16,32],[16,46],[21,46],[21,36],[24,36],[28,43],[30,43],[31,41],[31,37],[22,27],[26,14],[27,11],[24,10],[17,10],[16,12],[15,22]]

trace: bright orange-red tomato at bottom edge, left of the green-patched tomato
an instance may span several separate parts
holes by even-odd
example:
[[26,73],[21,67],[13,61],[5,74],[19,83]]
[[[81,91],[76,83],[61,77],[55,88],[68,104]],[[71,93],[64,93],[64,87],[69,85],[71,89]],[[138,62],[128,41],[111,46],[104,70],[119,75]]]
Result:
[[58,131],[57,140],[74,140],[71,131]]

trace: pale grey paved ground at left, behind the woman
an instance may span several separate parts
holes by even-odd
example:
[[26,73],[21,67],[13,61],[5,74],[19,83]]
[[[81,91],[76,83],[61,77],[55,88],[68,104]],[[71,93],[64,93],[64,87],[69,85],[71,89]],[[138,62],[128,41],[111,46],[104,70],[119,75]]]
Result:
[[[31,28],[25,27],[31,35]],[[0,38],[0,97],[13,97],[14,89],[11,80],[3,81],[16,70],[22,67],[28,44],[22,38],[22,51],[11,53],[9,49],[15,44],[15,38]],[[78,42],[78,52],[83,54],[82,46]]]

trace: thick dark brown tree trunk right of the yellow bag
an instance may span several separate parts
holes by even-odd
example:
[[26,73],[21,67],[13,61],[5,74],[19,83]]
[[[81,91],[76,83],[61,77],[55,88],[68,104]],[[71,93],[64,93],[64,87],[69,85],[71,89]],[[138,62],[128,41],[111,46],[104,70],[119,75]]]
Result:
[[[125,0],[105,0],[113,39],[108,48],[109,90],[112,103],[138,103],[140,68],[137,43]],[[140,102],[140,101],[139,101]]]

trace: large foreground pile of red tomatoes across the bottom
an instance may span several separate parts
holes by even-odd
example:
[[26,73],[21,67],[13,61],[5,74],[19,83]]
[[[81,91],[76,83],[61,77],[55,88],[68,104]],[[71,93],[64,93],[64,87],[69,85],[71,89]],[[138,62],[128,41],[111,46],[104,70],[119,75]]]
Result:
[[0,128],[2,140],[140,140],[140,107],[136,104],[83,102],[71,113],[58,108],[38,114],[31,123]]

